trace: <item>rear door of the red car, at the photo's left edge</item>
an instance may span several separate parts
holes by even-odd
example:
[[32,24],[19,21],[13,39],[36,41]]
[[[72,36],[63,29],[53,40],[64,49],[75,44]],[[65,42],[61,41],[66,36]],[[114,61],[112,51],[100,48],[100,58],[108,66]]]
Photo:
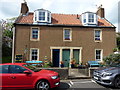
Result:
[[10,87],[11,78],[9,72],[9,65],[0,65],[0,80],[2,81],[0,87]]

